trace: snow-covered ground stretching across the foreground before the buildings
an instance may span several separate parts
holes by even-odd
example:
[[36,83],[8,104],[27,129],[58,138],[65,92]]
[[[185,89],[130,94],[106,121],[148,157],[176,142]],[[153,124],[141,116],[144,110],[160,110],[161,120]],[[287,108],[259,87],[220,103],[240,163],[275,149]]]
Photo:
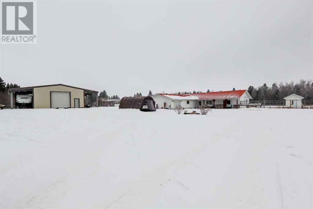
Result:
[[0,110],[1,208],[313,208],[313,110]]

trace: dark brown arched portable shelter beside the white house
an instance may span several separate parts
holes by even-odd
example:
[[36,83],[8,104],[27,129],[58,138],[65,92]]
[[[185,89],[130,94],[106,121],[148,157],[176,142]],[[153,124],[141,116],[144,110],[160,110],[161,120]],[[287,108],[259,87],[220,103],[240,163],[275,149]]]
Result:
[[[144,105],[148,109],[142,109]],[[119,109],[139,109],[140,111],[156,111],[155,102],[152,97],[123,97],[120,102]]]

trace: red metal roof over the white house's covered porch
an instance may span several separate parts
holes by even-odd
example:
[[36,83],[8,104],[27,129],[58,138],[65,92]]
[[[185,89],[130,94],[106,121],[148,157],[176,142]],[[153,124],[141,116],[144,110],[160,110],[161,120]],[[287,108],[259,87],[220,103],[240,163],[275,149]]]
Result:
[[199,99],[234,99],[241,97],[245,91],[246,90],[218,91],[191,95],[197,96]]

